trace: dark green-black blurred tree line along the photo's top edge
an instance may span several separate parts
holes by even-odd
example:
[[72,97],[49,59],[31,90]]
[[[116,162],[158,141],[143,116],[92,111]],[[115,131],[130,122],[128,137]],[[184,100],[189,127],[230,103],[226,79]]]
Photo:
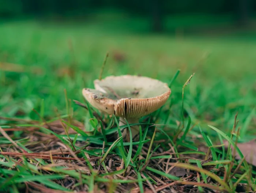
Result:
[[0,0],[0,19],[21,16],[84,16],[105,8],[114,8],[147,17],[151,21],[152,31],[165,29],[166,17],[203,13],[208,15],[235,16],[240,27],[256,11],[256,0]]

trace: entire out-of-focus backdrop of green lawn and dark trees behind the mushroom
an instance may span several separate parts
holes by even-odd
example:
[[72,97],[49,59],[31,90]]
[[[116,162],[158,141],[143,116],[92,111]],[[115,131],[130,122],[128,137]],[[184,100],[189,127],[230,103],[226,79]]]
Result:
[[170,82],[180,69],[174,117],[194,72],[185,92],[193,121],[230,126],[237,111],[245,122],[256,105],[254,0],[0,0],[0,116],[65,113],[64,89],[83,101],[82,88],[93,87],[107,52],[103,77]]

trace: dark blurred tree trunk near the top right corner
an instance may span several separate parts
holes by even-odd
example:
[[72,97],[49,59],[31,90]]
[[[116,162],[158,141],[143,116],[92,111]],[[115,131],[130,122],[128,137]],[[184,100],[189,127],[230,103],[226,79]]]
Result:
[[249,0],[237,0],[237,22],[238,25],[244,26],[249,20]]

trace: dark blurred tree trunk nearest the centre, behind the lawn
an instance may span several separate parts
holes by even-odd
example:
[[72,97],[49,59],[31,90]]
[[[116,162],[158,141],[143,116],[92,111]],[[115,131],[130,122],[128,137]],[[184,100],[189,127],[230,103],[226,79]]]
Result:
[[163,0],[152,0],[153,31],[163,31]]

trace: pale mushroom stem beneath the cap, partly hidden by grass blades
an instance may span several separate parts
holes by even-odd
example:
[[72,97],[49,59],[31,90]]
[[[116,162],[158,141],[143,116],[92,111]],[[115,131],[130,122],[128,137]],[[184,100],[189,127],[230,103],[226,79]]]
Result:
[[[129,124],[139,123],[138,118],[127,118],[127,121]],[[127,125],[127,123],[123,117],[120,117],[119,126],[123,126],[123,125]],[[131,127],[132,138],[133,138],[136,134],[139,133],[139,125],[130,126],[130,127]],[[122,136],[125,137],[125,141],[130,141],[130,133],[129,133],[128,127],[123,131]]]

